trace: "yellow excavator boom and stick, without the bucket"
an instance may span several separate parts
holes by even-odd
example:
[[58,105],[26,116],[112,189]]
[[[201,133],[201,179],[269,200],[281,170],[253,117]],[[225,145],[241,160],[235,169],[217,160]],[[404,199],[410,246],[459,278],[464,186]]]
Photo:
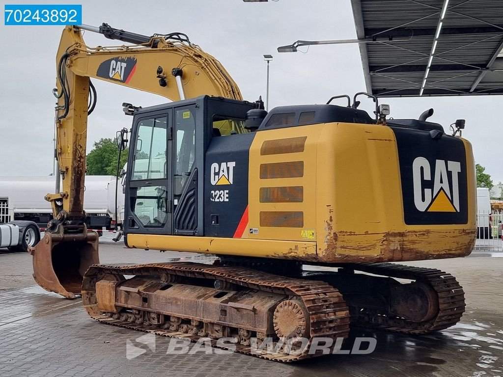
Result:
[[[237,85],[220,62],[188,38],[178,40],[180,34],[146,37],[105,25],[96,29],[108,38],[142,44],[90,48],[82,39],[82,28],[93,27],[64,29],[56,59],[57,91],[61,94],[56,116],[56,153],[63,177],[63,206],[53,206],[55,217],[62,210],[70,217],[79,217],[83,209],[89,78],[147,91],[172,101],[203,94],[241,99]],[[168,39],[175,35],[177,40]],[[58,195],[49,199],[54,202]]]

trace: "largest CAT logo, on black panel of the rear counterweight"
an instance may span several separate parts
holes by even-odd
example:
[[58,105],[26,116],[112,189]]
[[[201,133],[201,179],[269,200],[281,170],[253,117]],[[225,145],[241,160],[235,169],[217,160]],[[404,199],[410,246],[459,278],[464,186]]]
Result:
[[433,167],[425,157],[416,157],[412,163],[415,208],[421,212],[459,212],[460,172],[458,161],[436,160]]

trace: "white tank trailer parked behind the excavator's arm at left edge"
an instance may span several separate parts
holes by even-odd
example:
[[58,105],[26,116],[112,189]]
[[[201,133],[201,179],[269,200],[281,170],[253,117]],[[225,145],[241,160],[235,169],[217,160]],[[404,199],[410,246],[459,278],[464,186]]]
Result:
[[[113,175],[86,176],[84,209],[89,229],[115,228],[115,179]],[[31,221],[44,228],[52,220],[50,203],[44,197],[54,192],[54,186],[53,176],[0,176],[0,199],[10,209],[10,220]],[[120,225],[124,212],[120,182],[117,207]]]

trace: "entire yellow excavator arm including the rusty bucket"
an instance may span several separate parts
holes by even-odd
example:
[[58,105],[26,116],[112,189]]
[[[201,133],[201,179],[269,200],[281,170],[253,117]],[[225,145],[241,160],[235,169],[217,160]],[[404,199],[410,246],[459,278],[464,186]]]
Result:
[[[86,30],[133,45],[89,47],[82,38]],[[182,33],[149,37],[107,24],[68,26],[61,35],[56,69],[56,158],[62,186],[57,184],[56,193],[45,197],[54,220],[30,253],[37,283],[74,298],[83,273],[99,263],[98,234],[86,229],[83,211],[88,115],[97,98],[90,78],[172,101],[203,94],[240,100],[241,94],[221,63]]]

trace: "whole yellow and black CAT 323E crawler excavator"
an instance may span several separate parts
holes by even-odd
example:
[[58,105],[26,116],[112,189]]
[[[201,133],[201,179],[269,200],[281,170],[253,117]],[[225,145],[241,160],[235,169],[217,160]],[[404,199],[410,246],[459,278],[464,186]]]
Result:
[[[83,30],[130,45],[91,48]],[[451,274],[390,262],[471,252],[463,120],[447,134],[427,120],[432,109],[386,119],[389,106],[368,93],[266,112],[182,33],[68,26],[56,63],[63,184],[47,195],[54,220],[30,250],[41,287],[81,295],[102,323],[285,362],[333,350],[350,325],[418,335],[460,320],[464,292]],[[212,254],[213,264],[99,264],[82,207],[91,77],[175,100],[123,104],[126,246]],[[375,102],[372,116],[361,96]]]

